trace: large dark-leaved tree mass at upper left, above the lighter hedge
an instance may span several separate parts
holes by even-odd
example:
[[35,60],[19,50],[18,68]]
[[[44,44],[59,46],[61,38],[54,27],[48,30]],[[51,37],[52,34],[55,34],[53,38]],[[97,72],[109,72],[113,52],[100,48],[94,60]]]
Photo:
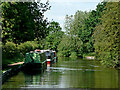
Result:
[[49,33],[44,12],[49,3],[3,2],[2,3],[2,41],[23,43],[37,38],[45,38]]

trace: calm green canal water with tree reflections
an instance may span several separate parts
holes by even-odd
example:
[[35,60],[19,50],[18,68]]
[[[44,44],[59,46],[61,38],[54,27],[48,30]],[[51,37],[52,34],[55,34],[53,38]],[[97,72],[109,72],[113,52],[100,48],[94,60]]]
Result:
[[2,88],[119,88],[119,75],[95,60],[58,58],[44,72],[19,72]]

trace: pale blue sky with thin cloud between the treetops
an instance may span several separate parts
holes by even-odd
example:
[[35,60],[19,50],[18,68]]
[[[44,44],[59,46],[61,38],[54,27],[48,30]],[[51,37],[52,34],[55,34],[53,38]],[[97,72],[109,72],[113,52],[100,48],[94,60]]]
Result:
[[[47,0],[41,0],[45,3]],[[48,21],[56,21],[62,27],[64,31],[65,16],[74,15],[77,10],[90,11],[95,10],[96,5],[101,0],[49,0],[51,9],[45,12],[45,18]]]

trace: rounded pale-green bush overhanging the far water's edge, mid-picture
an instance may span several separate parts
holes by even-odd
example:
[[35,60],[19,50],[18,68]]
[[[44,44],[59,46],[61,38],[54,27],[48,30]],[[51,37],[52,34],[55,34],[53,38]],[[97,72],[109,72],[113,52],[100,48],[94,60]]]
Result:
[[58,51],[62,55],[69,57],[71,55],[71,52],[78,52],[81,43],[81,40],[77,37],[64,35],[60,44],[58,45]]

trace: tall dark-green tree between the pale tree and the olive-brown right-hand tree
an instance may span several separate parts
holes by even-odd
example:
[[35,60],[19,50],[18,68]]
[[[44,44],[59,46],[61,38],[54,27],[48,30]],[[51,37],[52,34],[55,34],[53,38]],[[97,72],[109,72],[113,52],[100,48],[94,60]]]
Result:
[[84,24],[78,32],[78,35],[84,44],[83,47],[84,49],[86,48],[83,53],[94,52],[93,32],[95,31],[96,25],[101,22],[99,18],[102,15],[105,4],[105,2],[99,3],[96,10],[90,12],[89,17],[84,20]]

